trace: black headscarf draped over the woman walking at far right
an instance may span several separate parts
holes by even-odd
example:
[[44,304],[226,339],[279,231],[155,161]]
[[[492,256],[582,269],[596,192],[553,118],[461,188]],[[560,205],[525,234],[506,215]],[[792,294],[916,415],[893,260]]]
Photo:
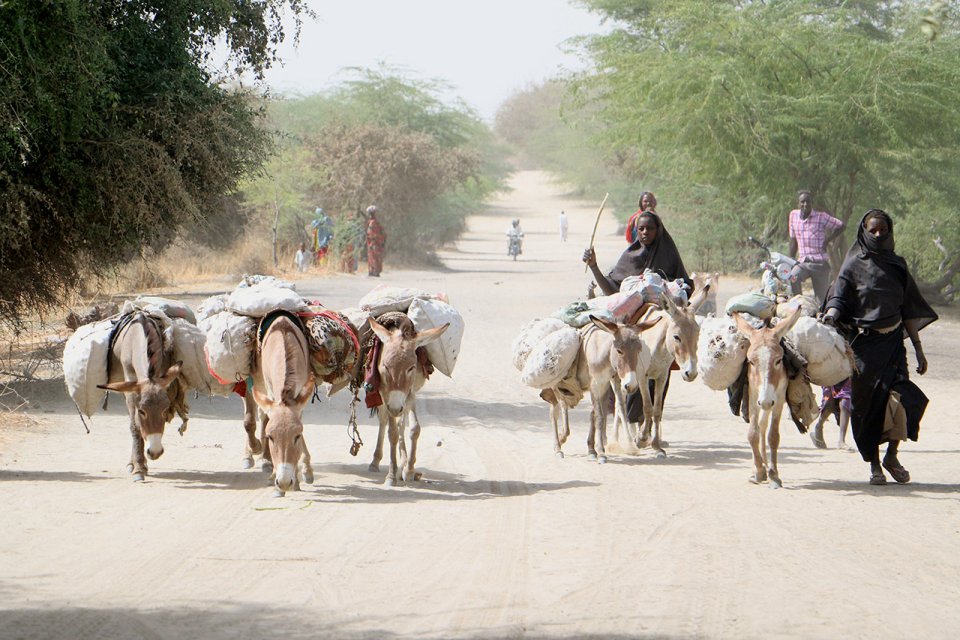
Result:
[[[887,223],[889,233],[874,237],[864,224],[870,218]],[[917,330],[937,319],[907,269],[893,251],[893,220],[880,209],[871,209],[857,226],[857,241],[847,252],[825,309],[836,308],[840,321],[865,329],[891,327],[900,320],[916,320]]]

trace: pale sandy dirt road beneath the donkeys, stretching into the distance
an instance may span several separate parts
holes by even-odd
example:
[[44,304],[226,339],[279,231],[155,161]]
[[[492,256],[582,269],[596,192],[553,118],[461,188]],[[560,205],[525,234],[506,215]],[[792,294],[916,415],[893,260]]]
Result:
[[[924,332],[932,403],[902,460],[914,483],[870,487],[853,453],[783,426],[782,491],[750,485],[746,427],[724,396],[674,380],[669,457],[567,458],[521,387],[509,343],[581,295],[596,203],[522,173],[439,272],[382,281],[448,293],[467,322],[454,379],[419,403],[425,481],[387,488],[348,453],[346,397],[305,414],[316,482],[276,499],[240,470],[240,403],[192,403],[148,481],[124,471],[113,398],[85,435],[60,387],[35,390],[41,423],[0,429],[0,638],[956,637],[960,629],[960,355],[956,323]],[[570,241],[557,214],[570,217]],[[505,255],[520,217],[525,251]],[[598,254],[622,247],[614,222]],[[373,284],[301,289],[348,306]],[[741,290],[726,283],[721,298]],[[830,444],[836,427],[828,428]]]

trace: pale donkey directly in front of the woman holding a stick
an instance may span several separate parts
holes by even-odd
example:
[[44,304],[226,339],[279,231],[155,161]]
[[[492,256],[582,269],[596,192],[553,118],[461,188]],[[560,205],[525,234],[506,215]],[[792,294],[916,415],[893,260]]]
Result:
[[[643,432],[636,440],[638,447],[648,444],[657,457],[666,457],[663,450],[663,400],[670,379],[670,368],[676,362],[680,367],[680,377],[685,382],[697,378],[697,341],[700,339],[700,325],[697,324],[696,311],[703,304],[710,291],[708,283],[690,298],[686,307],[678,307],[670,296],[660,297],[662,310],[648,318],[661,318],[665,322],[643,334],[643,341],[650,349],[650,366],[642,386],[649,388],[643,398]],[[622,414],[626,417],[626,412]],[[626,420],[625,420],[626,422]],[[651,440],[651,430],[653,439]],[[628,429],[629,432],[629,429]]]

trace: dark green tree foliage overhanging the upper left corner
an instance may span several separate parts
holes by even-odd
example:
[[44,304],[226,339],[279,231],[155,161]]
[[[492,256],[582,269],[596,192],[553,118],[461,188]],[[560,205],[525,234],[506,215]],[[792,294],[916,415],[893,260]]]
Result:
[[212,45],[259,77],[301,4],[0,3],[0,321],[224,210],[269,138],[260,103],[211,77]]

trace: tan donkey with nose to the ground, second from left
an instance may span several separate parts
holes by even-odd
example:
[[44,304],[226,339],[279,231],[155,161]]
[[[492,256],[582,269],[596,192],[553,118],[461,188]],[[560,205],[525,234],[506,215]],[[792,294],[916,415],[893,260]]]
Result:
[[[307,339],[283,313],[269,322],[257,350],[253,397],[265,414],[261,422],[263,470],[272,471],[276,494],[299,491],[300,482],[313,483],[310,452],[303,438],[303,408],[314,390]],[[246,421],[245,421],[246,424]]]

